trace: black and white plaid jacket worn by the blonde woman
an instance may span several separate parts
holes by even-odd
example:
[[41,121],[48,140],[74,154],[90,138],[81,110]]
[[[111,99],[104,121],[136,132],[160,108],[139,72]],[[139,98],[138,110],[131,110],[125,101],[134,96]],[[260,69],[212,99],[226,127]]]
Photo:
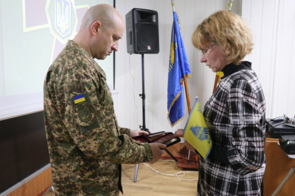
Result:
[[[222,78],[204,107],[212,143],[230,164],[200,157],[198,196],[260,196],[266,168],[266,101],[251,63]],[[227,65],[227,69],[230,66]],[[209,156],[210,157],[210,156]]]

